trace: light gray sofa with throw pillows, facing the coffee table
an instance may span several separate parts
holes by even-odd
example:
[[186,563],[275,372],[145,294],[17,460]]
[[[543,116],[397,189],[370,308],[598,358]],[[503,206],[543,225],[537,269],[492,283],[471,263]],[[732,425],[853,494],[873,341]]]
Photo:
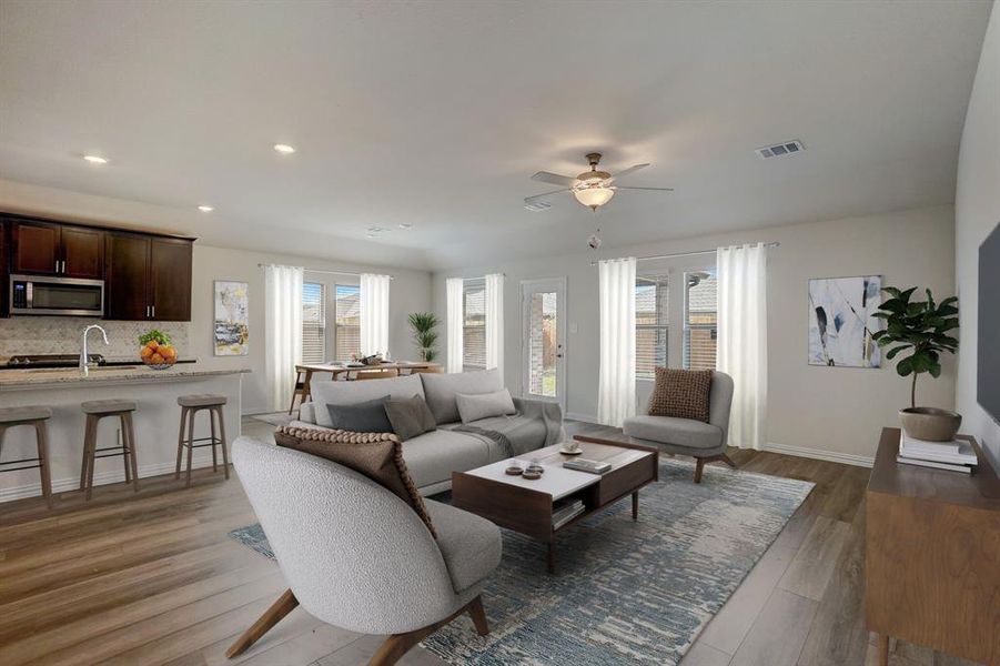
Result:
[[455,395],[482,394],[504,389],[495,370],[455,374],[414,374],[364,382],[313,381],[312,400],[300,408],[292,425],[330,427],[327,404],[354,404],[385,395],[408,398],[421,395],[437,422],[437,430],[403,442],[403,458],[423,495],[452,487],[452,472],[467,472],[512,455],[550,446],[564,437],[558,404],[514,398],[516,414],[463,424]]

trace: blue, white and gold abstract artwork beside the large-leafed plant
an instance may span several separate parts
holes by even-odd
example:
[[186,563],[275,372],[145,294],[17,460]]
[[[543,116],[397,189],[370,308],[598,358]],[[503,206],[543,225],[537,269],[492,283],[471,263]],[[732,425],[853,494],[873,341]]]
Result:
[[879,367],[882,276],[809,280],[809,365]]

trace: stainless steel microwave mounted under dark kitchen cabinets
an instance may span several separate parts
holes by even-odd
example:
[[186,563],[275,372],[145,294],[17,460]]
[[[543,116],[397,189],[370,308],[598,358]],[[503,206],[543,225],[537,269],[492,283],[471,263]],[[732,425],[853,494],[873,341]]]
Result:
[[103,316],[104,281],[11,275],[10,313]]

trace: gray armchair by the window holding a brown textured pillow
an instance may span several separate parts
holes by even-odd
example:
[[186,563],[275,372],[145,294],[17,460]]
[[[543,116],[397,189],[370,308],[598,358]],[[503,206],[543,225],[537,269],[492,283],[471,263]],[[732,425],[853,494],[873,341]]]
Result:
[[694,456],[697,462],[695,483],[701,483],[701,471],[706,463],[723,461],[730,467],[736,467],[726,455],[731,405],[733,377],[716,371],[711,373],[708,423],[642,414],[626,418],[622,430],[639,444],[655,446],[666,453]]

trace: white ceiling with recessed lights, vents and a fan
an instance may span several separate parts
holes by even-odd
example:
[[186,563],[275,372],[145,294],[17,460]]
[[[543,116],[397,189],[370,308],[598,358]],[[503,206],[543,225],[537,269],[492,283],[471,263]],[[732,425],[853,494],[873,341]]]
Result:
[[[334,256],[413,223],[375,243],[432,268],[582,251],[595,223],[619,245],[948,203],[989,11],[3,0],[0,176],[231,246]],[[789,139],[807,151],[754,154]],[[593,150],[676,192],[523,208]]]

